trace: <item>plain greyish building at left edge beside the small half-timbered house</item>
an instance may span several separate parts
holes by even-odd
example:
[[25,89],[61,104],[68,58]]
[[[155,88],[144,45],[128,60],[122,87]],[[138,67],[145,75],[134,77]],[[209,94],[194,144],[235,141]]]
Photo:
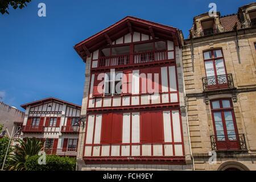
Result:
[[[23,123],[24,117],[25,113],[23,111],[16,109],[16,107],[9,106],[3,102],[0,102],[0,124],[3,125],[3,130],[6,128],[8,129],[10,135],[14,127],[13,134],[18,131],[15,137],[19,137],[19,129]],[[6,136],[8,136],[8,134],[6,134]]]

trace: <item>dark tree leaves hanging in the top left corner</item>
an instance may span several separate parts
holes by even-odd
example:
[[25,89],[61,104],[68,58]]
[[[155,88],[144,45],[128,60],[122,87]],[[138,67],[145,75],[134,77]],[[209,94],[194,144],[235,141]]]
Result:
[[0,12],[9,14],[9,6],[13,7],[13,9],[23,9],[29,2],[31,0],[0,0]]

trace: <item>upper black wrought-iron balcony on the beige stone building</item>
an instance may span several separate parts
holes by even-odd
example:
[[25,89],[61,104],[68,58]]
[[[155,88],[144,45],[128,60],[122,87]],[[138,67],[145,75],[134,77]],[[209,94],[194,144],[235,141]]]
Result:
[[234,88],[232,74],[203,77],[204,91]]

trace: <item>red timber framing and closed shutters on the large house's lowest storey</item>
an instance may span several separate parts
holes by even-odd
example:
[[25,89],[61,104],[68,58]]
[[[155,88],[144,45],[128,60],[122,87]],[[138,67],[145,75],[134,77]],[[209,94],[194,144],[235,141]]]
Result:
[[[179,128],[180,128],[180,141],[175,142],[175,134],[174,134],[174,119],[172,118],[172,111],[178,111],[179,118]],[[171,129],[171,141],[164,141],[164,123],[163,123],[163,112],[170,112],[170,129]],[[123,114],[130,114],[130,139],[128,143],[122,142],[122,132],[123,132]],[[165,110],[144,110],[140,111],[139,114],[139,142],[133,142],[133,131],[132,131],[132,115],[134,113],[103,113],[102,121],[101,121],[101,140],[100,143],[94,143],[94,136],[96,133],[96,115],[93,114],[93,134],[92,143],[86,143],[85,134],[85,146],[89,147],[89,151],[84,150],[83,159],[86,164],[184,164],[184,140],[183,140],[183,130],[181,123],[181,113],[179,109],[165,109]],[[88,133],[88,118],[85,126],[85,133]],[[154,145],[159,144],[162,146],[163,154],[160,156],[154,155]],[[148,156],[143,155],[142,146],[150,145],[151,153]],[[164,147],[172,146],[172,156],[165,154]],[[181,155],[176,154],[176,145],[182,146]],[[102,155],[102,147],[109,146],[109,155]],[[118,155],[112,155],[112,147],[120,146]],[[127,156],[122,155],[122,146],[130,147],[130,154]],[[131,148],[133,146],[139,146],[139,155],[132,155]],[[94,147],[98,147],[100,150],[99,155],[94,155]],[[90,156],[86,156],[85,152],[90,154]],[[179,151],[180,152],[180,151]]]

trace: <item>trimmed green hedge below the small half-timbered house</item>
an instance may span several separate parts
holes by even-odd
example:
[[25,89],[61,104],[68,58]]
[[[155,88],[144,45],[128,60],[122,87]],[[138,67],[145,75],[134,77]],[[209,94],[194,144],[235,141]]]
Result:
[[67,156],[46,155],[46,164],[38,164],[40,156],[29,156],[25,162],[26,171],[75,171],[76,159]]

